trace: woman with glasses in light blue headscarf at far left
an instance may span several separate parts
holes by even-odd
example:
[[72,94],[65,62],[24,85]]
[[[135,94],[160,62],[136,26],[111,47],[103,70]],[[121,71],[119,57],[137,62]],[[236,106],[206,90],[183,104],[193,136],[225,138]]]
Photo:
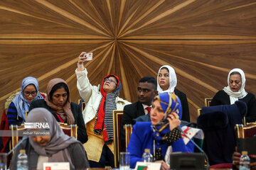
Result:
[[7,111],[8,124],[21,125],[26,121],[26,112],[32,101],[43,99],[46,96],[38,93],[38,80],[34,77],[26,77],[21,82],[21,92],[11,101]]

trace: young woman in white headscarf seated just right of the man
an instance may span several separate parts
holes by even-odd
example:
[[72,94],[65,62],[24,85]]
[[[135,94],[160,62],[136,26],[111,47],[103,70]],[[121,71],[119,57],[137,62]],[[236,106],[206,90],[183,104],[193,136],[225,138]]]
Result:
[[176,89],[177,77],[174,68],[169,65],[160,67],[157,74],[157,91],[159,94],[164,92],[173,93],[181,100],[182,118],[181,120],[190,122],[188,100],[186,94]]

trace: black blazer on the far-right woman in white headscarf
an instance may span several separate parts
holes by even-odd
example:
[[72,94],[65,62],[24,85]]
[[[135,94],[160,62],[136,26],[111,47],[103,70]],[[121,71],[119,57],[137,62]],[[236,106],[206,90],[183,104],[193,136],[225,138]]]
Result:
[[[245,115],[245,121],[247,123],[252,123],[256,121],[256,99],[253,94],[247,92],[247,95],[244,98],[238,99],[247,104],[247,114]],[[230,96],[225,93],[225,91],[218,91],[217,94],[213,97],[213,100],[210,102],[210,106],[218,105],[230,105]]]

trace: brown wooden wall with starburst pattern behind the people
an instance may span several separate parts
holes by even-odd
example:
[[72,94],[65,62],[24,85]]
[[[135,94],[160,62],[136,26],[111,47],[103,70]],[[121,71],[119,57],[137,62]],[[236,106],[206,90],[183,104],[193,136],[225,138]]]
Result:
[[227,85],[230,69],[243,69],[245,89],[256,94],[255,7],[254,0],[2,0],[1,108],[27,76],[40,91],[65,79],[78,101],[75,68],[86,51],[94,55],[85,64],[91,84],[117,74],[120,96],[132,102],[141,77],[171,65],[196,121],[196,109]]

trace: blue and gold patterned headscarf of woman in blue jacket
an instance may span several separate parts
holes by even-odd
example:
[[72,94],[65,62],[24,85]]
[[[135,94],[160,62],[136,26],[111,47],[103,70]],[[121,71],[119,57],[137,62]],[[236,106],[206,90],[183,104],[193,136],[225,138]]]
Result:
[[156,96],[154,98],[154,101],[156,100],[160,102],[161,108],[164,111],[164,117],[160,120],[157,126],[159,125],[163,126],[166,123],[168,123],[167,116],[172,112],[177,113],[177,115],[179,116],[179,120],[181,120],[182,107],[181,107],[181,101],[178,98],[178,96],[171,93],[164,93],[164,94],[159,94],[159,96]]

